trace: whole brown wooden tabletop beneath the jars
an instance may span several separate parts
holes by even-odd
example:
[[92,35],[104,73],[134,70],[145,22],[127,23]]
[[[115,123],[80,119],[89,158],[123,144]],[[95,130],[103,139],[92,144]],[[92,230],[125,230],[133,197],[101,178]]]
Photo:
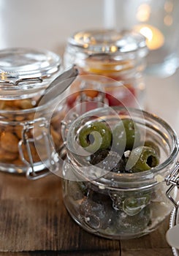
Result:
[[58,176],[28,181],[0,173],[0,256],[172,256],[168,226],[169,218],[150,235],[129,241],[99,238],[69,217]]

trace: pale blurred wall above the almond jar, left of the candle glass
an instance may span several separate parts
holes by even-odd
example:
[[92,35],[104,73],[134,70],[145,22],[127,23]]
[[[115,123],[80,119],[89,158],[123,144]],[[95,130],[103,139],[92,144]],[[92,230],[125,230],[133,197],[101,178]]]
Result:
[[103,26],[103,0],[0,0],[0,49],[37,47],[61,51],[81,29]]

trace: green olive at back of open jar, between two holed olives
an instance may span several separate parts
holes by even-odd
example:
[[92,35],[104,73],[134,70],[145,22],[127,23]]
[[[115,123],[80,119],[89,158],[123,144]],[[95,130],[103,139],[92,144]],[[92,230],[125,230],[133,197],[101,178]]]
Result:
[[113,146],[115,151],[132,150],[133,146],[140,143],[140,129],[132,119],[123,119],[113,129]]

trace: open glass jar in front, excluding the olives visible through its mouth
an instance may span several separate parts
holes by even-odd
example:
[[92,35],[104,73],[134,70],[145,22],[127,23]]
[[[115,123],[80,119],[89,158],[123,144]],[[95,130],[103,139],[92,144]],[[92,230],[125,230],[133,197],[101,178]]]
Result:
[[[66,116],[62,126],[67,153],[63,197],[69,214],[85,230],[105,238],[129,239],[151,233],[170,214],[172,203],[167,196],[176,197],[177,187],[169,191],[166,184],[170,185],[168,177],[177,164],[175,131],[161,118],[134,108],[97,108],[78,118],[73,114]],[[91,165],[90,153],[79,146],[80,129],[93,121],[104,121],[113,129],[126,118],[140,128],[141,141],[151,140],[159,148],[159,165],[137,173],[115,173]],[[109,162],[104,159],[105,166]]]

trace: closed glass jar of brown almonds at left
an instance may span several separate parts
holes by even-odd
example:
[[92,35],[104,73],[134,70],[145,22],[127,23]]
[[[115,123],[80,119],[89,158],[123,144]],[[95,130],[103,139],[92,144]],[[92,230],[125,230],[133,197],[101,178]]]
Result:
[[[53,110],[55,102],[39,105],[39,100],[60,73],[61,58],[50,51],[29,48],[0,51],[1,171],[26,173],[28,178],[36,178],[37,172],[38,176],[46,175],[51,159],[49,148],[61,146],[65,108],[59,105]],[[41,158],[34,140],[41,145]]]

